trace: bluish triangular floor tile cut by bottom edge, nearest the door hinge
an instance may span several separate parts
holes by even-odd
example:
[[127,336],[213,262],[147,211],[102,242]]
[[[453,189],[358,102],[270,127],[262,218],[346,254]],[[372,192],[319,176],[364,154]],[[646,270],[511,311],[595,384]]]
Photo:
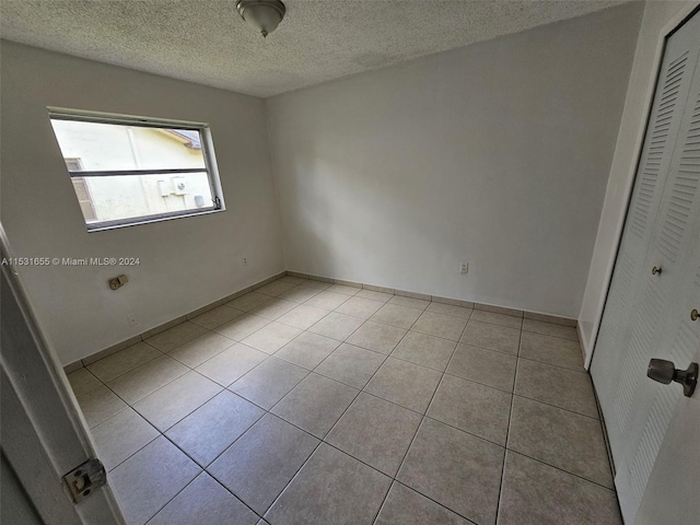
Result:
[[256,525],[258,516],[207,472],[200,474],[149,525]]

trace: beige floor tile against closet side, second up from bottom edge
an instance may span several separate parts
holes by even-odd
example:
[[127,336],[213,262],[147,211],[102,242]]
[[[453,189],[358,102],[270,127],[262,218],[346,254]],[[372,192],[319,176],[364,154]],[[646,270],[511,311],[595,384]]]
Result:
[[596,419],[515,396],[508,447],[614,487],[600,421]]

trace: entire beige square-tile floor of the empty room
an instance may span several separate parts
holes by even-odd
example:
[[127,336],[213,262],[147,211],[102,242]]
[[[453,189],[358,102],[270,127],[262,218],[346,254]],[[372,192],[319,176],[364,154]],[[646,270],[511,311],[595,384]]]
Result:
[[620,524],[574,328],[284,277],[69,374],[130,524]]

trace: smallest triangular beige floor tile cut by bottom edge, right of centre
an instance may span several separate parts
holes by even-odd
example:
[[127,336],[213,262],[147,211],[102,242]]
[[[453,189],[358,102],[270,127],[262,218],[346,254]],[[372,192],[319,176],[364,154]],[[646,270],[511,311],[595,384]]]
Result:
[[394,481],[374,525],[471,525],[464,517]]

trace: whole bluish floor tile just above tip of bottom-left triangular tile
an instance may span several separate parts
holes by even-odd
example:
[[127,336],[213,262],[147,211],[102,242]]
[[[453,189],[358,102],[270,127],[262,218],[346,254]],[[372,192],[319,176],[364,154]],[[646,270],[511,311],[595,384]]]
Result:
[[265,410],[229,390],[210,399],[165,435],[206,467],[248,430]]

